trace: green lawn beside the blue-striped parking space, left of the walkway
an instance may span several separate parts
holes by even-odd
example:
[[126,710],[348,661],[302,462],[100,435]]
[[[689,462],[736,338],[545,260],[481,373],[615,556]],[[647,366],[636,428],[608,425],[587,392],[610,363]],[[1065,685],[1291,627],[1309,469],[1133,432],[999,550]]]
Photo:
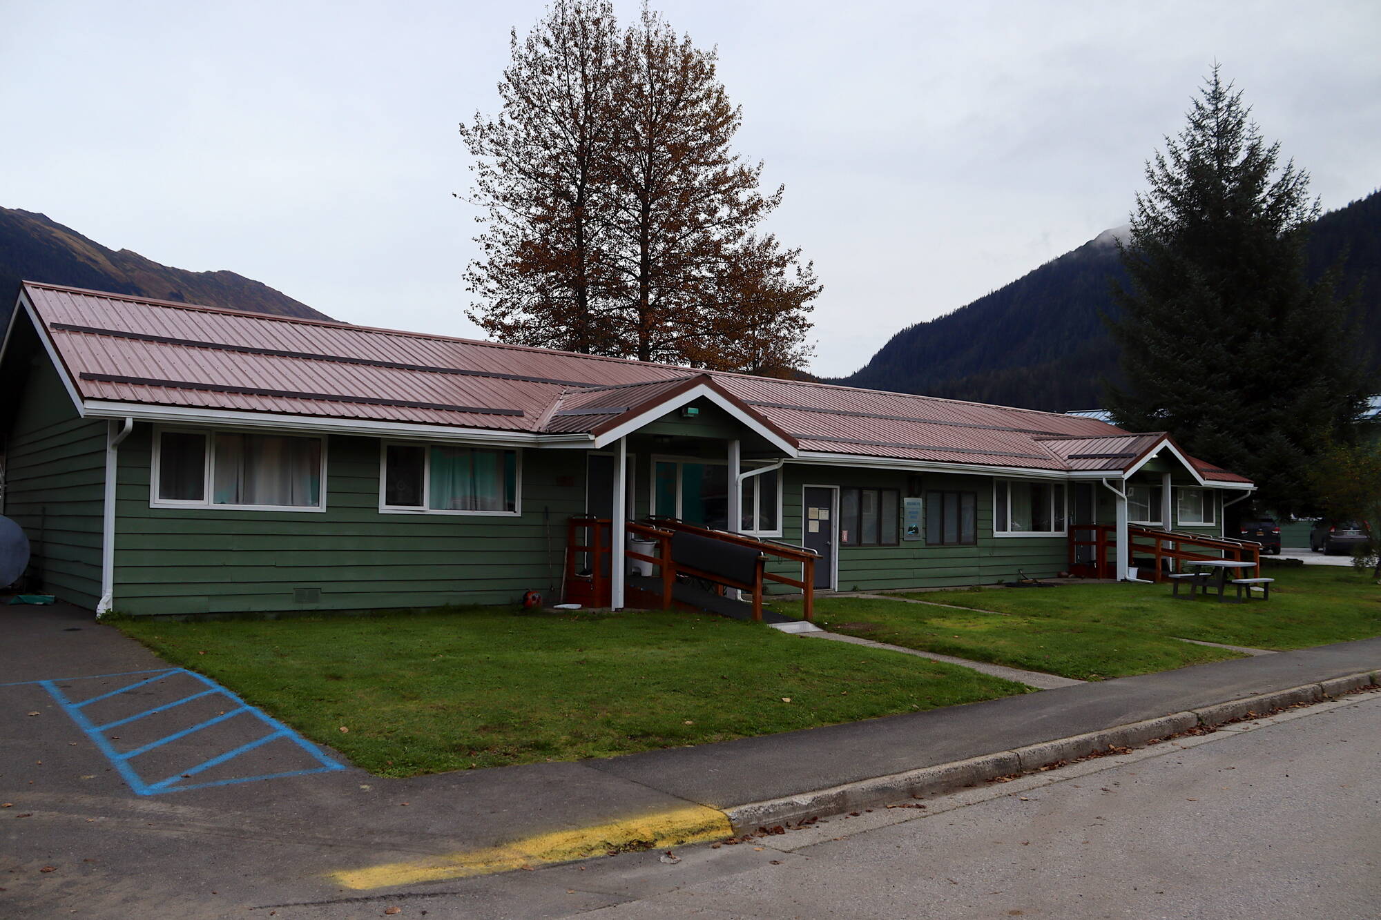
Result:
[[117,626],[383,776],[609,757],[1026,691],[693,613],[464,608]]

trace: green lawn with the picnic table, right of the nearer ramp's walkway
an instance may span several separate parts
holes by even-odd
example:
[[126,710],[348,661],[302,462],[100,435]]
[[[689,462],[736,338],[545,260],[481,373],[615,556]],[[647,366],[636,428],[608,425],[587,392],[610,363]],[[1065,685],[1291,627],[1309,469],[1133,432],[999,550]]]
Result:
[[[1236,658],[1179,642],[1305,648],[1381,635],[1381,587],[1342,568],[1269,568],[1271,601],[1175,600],[1168,584],[925,591],[972,613],[871,598],[822,598],[818,619],[851,635],[1080,680]],[[780,605],[789,606],[789,605]]]

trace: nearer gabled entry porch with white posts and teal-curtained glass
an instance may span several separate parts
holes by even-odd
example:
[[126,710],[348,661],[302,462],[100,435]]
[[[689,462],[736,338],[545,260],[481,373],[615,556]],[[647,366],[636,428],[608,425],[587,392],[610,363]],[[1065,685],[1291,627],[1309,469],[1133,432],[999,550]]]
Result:
[[568,522],[563,601],[670,608],[692,604],[696,587],[703,608],[713,587],[726,601],[742,594],[761,620],[764,586],[776,583],[809,611],[816,554],[780,540],[791,435],[704,374],[580,396],[595,405],[565,412],[598,424],[583,457],[586,512]]

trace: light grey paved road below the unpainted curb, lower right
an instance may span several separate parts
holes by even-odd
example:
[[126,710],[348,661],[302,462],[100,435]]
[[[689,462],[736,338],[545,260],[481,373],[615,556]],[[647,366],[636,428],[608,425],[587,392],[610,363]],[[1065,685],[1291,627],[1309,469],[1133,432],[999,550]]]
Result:
[[1291,716],[772,837],[780,865],[581,916],[1381,917],[1381,696]]

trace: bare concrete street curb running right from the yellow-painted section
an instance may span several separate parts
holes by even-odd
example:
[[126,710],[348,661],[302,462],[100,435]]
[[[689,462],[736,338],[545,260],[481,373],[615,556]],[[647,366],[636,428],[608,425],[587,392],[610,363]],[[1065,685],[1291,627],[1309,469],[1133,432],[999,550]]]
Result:
[[805,821],[807,818],[858,811],[859,808],[895,803],[900,798],[936,796],[964,786],[975,786],[998,776],[1033,772],[1041,767],[1077,760],[1101,750],[1108,750],[1109,747],[1139,747],[1199,725],[1211,728],[1247,716],[1265,716],[1271,710],[1287,706],[1319,703],[1326,698],[1340,696],[1366,687],[1381,687],[1381,671],[1359,671],[1315,684],[1301,684],[1300,687],[1290,687],[1269,693],[1255,693],[1213,706],[1170,713],[1159,718],[1148,718],[1139,722],[1113,725],[1112,728],[1095,732],[1026,745],[1014,750],[994,751],[949,764],[860,779],[841,786],[782,798],[731,805],[722,811],[733,826],[735,833],[746,834],[760,827],[772,827],[775,825]]

